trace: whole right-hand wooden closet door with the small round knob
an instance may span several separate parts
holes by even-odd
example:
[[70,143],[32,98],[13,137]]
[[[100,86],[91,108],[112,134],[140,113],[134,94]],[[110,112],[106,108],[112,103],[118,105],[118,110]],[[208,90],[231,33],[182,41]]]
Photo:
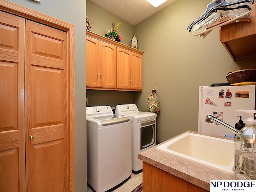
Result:
[[26,20],[27,191],[67,191],[67,34]]

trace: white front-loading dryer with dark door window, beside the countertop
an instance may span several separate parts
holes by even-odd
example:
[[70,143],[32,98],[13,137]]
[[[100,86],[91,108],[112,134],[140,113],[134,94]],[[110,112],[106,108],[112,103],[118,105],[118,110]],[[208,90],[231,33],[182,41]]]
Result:
[[136,104],[117,105],[115,114],[132,119],[132,171],[142,171],[138,154],[156,145],[156,114],[138,110]]

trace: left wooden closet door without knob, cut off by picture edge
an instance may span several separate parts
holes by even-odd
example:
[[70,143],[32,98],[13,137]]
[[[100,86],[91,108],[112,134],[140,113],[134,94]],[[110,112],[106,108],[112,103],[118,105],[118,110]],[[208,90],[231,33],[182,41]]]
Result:
[[0,11],[0,191],[26,191],[25,19]]

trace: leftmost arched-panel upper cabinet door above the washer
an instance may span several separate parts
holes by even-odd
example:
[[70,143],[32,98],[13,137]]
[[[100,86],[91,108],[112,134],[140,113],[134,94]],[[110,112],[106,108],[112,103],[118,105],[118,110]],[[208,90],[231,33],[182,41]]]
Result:
[[86,86],[99,86],[99,41],[86,36]]

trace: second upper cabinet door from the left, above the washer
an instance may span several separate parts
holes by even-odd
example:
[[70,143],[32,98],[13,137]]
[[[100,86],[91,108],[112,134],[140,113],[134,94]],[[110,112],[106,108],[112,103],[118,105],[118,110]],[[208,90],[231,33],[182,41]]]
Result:
[[116,88],[116,46],[99,42],[100,87]]

